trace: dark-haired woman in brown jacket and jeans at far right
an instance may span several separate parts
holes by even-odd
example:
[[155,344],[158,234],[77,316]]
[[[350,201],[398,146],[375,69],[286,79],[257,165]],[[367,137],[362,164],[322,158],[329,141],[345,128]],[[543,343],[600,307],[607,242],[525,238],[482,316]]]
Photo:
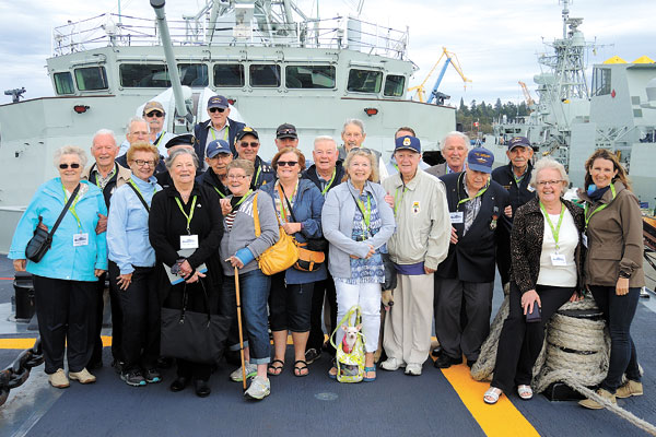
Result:
[[[631,322],[645,285],[642,214],[631,191],[626,172],[610,151],[599,149],[585,163],[586,243],[585,284],[604,311],[610,331],[610,364],[597,394],[616,403],[616,398],[643,394]],[[621,385],[622,376],[626,382]],[[581,405],[602,405],[586,399]]]

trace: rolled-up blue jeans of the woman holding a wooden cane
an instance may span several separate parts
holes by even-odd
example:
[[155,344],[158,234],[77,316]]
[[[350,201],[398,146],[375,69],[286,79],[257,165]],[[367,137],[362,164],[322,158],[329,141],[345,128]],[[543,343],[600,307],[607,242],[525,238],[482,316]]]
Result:
[[[244,344],[245,346],[248,345],[250,350],[251,364],[267,364],[271,362],[271,343],[267,327],[267,302],[269,300],[270,285],[271,279],[259,269],[239,273],[242,321],[245,328],[245,336],[248,339],[248,342]],[[226,294],[234,294],[234,276],[225,276],[223,286]],[[233,327],[237,329],[236,323],[233,323]],[[238,349],[238,344],[231,346],[233,351]]]

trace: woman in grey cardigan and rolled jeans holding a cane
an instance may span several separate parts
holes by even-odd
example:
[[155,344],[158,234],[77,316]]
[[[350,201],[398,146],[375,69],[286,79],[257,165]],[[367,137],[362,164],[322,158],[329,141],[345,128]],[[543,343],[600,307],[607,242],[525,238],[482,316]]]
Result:
[[[220,250],[223,273],[230,276],[223,288],[231,296],[235,295],[235,268],[239,269],[241,304],[248,339],[244,350],[245,369],[236,369],[230,378],[243,381],[243,373],[247,377],[255,376],[244,395],[261,400],[271,392],[267,377],[267,365],[271,361],[267,331],[267,299],[271,281],[261,272],[256,258],[276,244],[279,234],[271,197],[261,190],[250,189],[254,173],[251,161],[235,160],[227,165],[227,188],[232,196],[221,199],[225,220]],[[256,202],[259,229],[254,220]],[[233,344],[231,349],[238,350],[239,345]]]

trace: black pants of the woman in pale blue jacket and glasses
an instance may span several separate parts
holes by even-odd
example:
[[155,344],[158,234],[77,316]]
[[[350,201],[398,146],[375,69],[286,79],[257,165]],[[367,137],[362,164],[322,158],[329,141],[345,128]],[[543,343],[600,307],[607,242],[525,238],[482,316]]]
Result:
[[[113,276],[119,275],[118,268]],[[114,274],[116,273],[116,274]],[[160,298],[154,268],[136,267],[130,286],[120,297],[121,356],[126,370],[154,368],[160,356]]]

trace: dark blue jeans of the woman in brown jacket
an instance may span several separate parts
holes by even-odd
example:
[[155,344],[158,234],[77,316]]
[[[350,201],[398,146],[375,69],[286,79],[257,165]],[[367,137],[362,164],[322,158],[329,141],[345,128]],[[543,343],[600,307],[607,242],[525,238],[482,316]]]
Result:
[[637,354],[631,339],[631,322],[635,316],[640,287],[629,288],[629,294],[618,296],[614,286],[590,285],[590,292],[597,306],[604,311],[604,318],[610,332],[610,364],[608,375],[599,388],[614,393],[620,387],[622,376],[640,381]]

